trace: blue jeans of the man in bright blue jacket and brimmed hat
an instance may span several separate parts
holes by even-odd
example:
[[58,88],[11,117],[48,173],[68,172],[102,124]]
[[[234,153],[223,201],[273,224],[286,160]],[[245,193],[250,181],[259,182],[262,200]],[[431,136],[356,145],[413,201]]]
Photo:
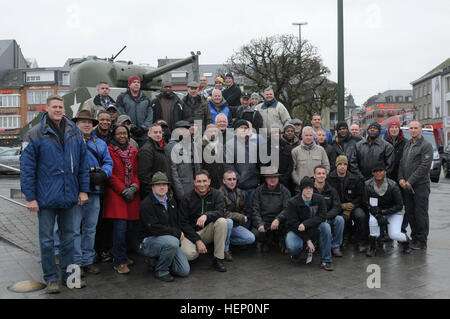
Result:
[[[77,206],[75,214],[75,254],[74,263],[87,266],[94,263],[95,230],[100,212],[100,196],[89,194],[83,206]],[[81,233],[81,229],[83,230]]]

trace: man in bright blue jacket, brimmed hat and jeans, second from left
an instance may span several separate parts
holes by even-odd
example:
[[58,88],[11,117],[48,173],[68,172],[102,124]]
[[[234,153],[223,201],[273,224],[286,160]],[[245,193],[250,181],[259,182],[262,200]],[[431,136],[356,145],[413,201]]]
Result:
[[[75,214],[75,255],[74,264],[82,267],[85,272],[98,274],[99,268],[94,265],[94,241],[100,212],[100,196],[106,180],[111,176],[113,161],[109,155],[108,146],[93,132],[98,121],[88,110],[80,111],[72,119],[83,134],[88,149],[90,175],[89,199],[83,206],[77,206]],[[80,234],[83,229],[82,234]]]

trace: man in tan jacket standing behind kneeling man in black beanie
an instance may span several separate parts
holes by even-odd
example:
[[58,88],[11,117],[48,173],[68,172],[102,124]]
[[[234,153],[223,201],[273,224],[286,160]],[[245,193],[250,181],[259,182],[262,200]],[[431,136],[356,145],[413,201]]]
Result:
[[311,126],[303,129],[302,142],[292,151],[292,159],[294,161],[292,179],[296,185],[300,185],[303,177],[312,177],[314,167],[317,165],[324,165],[327,168],[327,174],[330,172],[327,152],[314,142],[314,129]]

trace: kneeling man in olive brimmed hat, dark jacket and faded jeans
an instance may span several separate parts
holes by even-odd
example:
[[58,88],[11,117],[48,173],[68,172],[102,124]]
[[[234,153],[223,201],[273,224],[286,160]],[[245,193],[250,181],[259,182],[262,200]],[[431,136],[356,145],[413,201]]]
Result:
[[156,278],[171,282],[171,272],[189,275],[190,266],[180,248],[184,238],[176,201],[168,194],[169,180],[162,172],[152,178],[152,193],[141,203],[139,241],[143,254],[149,257]]

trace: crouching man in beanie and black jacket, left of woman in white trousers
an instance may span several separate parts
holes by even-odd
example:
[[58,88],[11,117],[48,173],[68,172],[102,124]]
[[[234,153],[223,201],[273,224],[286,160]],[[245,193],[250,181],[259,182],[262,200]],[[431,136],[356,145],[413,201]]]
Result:
[[341,201],[342,217],[345,220],[343,247],[355,241],[358,251],[365,252],[368,246],[369,218],[361,208],[364,184],[360,177],[349,172],[345,155],[336,159],[336,169],[328,175],[327,183],[337,190]]

